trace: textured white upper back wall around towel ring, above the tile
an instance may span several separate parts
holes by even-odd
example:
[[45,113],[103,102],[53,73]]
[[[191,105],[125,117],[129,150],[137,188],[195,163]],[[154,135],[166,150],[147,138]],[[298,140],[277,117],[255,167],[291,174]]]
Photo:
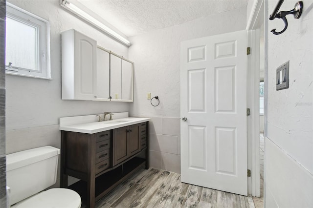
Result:
[[[129,58],[135,62],[131,116],[180,116],[180,42],[246,28],[246,7],[131,37]],[[159,96],[153,107],[147,92]]]

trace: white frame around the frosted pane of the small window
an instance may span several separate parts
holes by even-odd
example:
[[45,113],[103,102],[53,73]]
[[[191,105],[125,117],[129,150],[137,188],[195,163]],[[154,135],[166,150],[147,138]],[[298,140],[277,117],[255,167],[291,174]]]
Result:
[[[5,73],[25,77],[51,80],[50,69],[50,23],[45,19],[27,12],[11,3],[6,4],[6,17],[36,28],[36,65],[38,70],[6,65]],[[7,64],[7,63],[6,63]]]

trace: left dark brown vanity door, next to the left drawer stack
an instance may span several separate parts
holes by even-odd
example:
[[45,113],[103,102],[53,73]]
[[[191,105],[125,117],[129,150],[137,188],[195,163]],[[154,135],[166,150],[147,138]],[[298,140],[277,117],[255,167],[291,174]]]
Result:
[[128,126],[116,128],[113,133],[113,166],[128,158]]

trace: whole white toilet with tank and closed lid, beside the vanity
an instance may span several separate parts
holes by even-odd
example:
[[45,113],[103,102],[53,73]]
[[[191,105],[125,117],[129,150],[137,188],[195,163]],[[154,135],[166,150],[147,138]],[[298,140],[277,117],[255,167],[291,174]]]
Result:
[[[11,208],[80,208],[81,198],[56,183],[60,149],[43,146],[6,155],[6,180]],[[13,206],[12,206],[13,205]]]

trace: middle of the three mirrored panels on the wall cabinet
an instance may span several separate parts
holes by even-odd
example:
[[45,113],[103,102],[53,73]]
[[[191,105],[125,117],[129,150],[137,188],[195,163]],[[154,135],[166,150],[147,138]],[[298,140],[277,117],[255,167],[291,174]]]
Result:
[[122,59],[111,53],[111,101],[122,101]]

